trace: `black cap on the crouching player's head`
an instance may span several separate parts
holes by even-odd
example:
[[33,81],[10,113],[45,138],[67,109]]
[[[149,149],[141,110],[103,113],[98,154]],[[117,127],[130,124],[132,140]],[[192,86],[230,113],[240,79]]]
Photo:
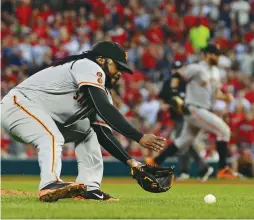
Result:
[[92,51],[98,56],[112,59],[120,65],[124,71],[133,74],[132,70],[127,65],[128,54],[118,43],[113,41],[102,41],[95,44]]

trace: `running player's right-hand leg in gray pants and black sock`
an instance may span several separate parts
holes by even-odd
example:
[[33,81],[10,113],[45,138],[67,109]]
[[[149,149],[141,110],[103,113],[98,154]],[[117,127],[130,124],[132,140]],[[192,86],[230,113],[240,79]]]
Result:
[[202,108],[190,108],[192,124],[209,131],[217,136],[217,150],[220,156],[219,168],[226,167],[227,144],[230,139],[230,129],[217,115]]

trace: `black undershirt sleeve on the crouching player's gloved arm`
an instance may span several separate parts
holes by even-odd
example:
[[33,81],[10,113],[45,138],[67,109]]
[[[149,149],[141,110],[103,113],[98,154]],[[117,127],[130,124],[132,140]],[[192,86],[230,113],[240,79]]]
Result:
[[120,142],[115,138],[112,131],[101,125],[92,125],[96,132],[100,145],[107,150],[113,157],[127,165],[127,160],[132,159],[125,151]]

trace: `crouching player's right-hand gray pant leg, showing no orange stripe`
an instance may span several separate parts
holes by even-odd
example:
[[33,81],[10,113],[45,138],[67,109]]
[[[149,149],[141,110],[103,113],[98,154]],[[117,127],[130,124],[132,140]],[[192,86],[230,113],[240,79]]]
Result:
[[84,183],[87,190],[100,188],[103,176],[103,158],[96,133],[88,119],[79,120],[68,128],[59,126],[66,142],[75,142],[78,163],[76,182]]

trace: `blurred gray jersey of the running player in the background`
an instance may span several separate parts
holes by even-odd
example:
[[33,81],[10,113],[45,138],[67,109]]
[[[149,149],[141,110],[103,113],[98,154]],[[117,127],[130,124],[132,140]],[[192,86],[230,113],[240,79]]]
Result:
[[220,87],[218,68],[201,61],[183,67],[180,73],[187,81],[185,103],[211,109],[216,90]]

